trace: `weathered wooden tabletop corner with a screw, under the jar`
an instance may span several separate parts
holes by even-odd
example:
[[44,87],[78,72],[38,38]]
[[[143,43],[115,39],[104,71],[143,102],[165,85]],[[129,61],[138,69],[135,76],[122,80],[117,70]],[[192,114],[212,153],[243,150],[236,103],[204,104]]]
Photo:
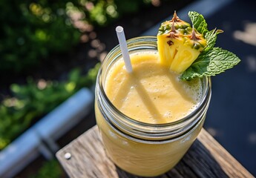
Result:
[[[137,177],[108,159],[97,126],[59,150],[56,156],[69,177]],[[159,177],[253,176],[203,129],[176,167]]]

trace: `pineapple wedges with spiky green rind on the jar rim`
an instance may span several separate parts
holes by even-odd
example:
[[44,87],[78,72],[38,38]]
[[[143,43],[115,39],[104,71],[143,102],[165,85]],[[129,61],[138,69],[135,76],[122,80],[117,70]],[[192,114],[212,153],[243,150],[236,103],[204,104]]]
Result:
[[176,12],[171,21],[161,24],[157,34],[160,62],[176,73],[183,73],[206,47],[206,39]]

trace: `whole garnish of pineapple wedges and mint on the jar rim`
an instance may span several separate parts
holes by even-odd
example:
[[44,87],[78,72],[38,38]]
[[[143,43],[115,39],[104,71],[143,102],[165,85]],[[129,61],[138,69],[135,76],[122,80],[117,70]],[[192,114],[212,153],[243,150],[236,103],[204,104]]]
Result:
[[180,79],[191,80],[215,76],[234,67],[240,59],[232,52],[214,47],[223,30],[208,30],[200,13],[190,11],[193,26],[182,21],[174,12],[171,21],[163,22],[157,34],[160,61],[170,70],[180,73]]

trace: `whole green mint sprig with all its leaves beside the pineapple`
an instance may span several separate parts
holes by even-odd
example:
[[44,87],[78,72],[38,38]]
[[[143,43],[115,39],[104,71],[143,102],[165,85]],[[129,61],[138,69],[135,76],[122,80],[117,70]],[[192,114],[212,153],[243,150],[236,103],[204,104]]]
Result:
[[223,33],[222,30],[208,30],[206,20],[200,13],[189,12],[188,16],[197,31],[204,35],[207,46],[203,49],[197,59],[180,76],[183,80],[191,80],[196,77],[215,76],[225,70],[234,67],[240,59],[234,53],[214,47],[217,34]]

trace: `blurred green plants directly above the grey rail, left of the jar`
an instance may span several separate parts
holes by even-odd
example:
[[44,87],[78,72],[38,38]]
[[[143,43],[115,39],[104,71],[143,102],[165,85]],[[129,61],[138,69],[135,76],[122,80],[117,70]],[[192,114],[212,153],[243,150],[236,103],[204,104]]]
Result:
[[93,85],[98,69],[99,64],[86,75],[74,69],[65,82],[35,82],[28,78],[27,85],[11,85],[13,97],[0,105],[0,150],[28,128],[33,119],[52,111],[80,88]]

